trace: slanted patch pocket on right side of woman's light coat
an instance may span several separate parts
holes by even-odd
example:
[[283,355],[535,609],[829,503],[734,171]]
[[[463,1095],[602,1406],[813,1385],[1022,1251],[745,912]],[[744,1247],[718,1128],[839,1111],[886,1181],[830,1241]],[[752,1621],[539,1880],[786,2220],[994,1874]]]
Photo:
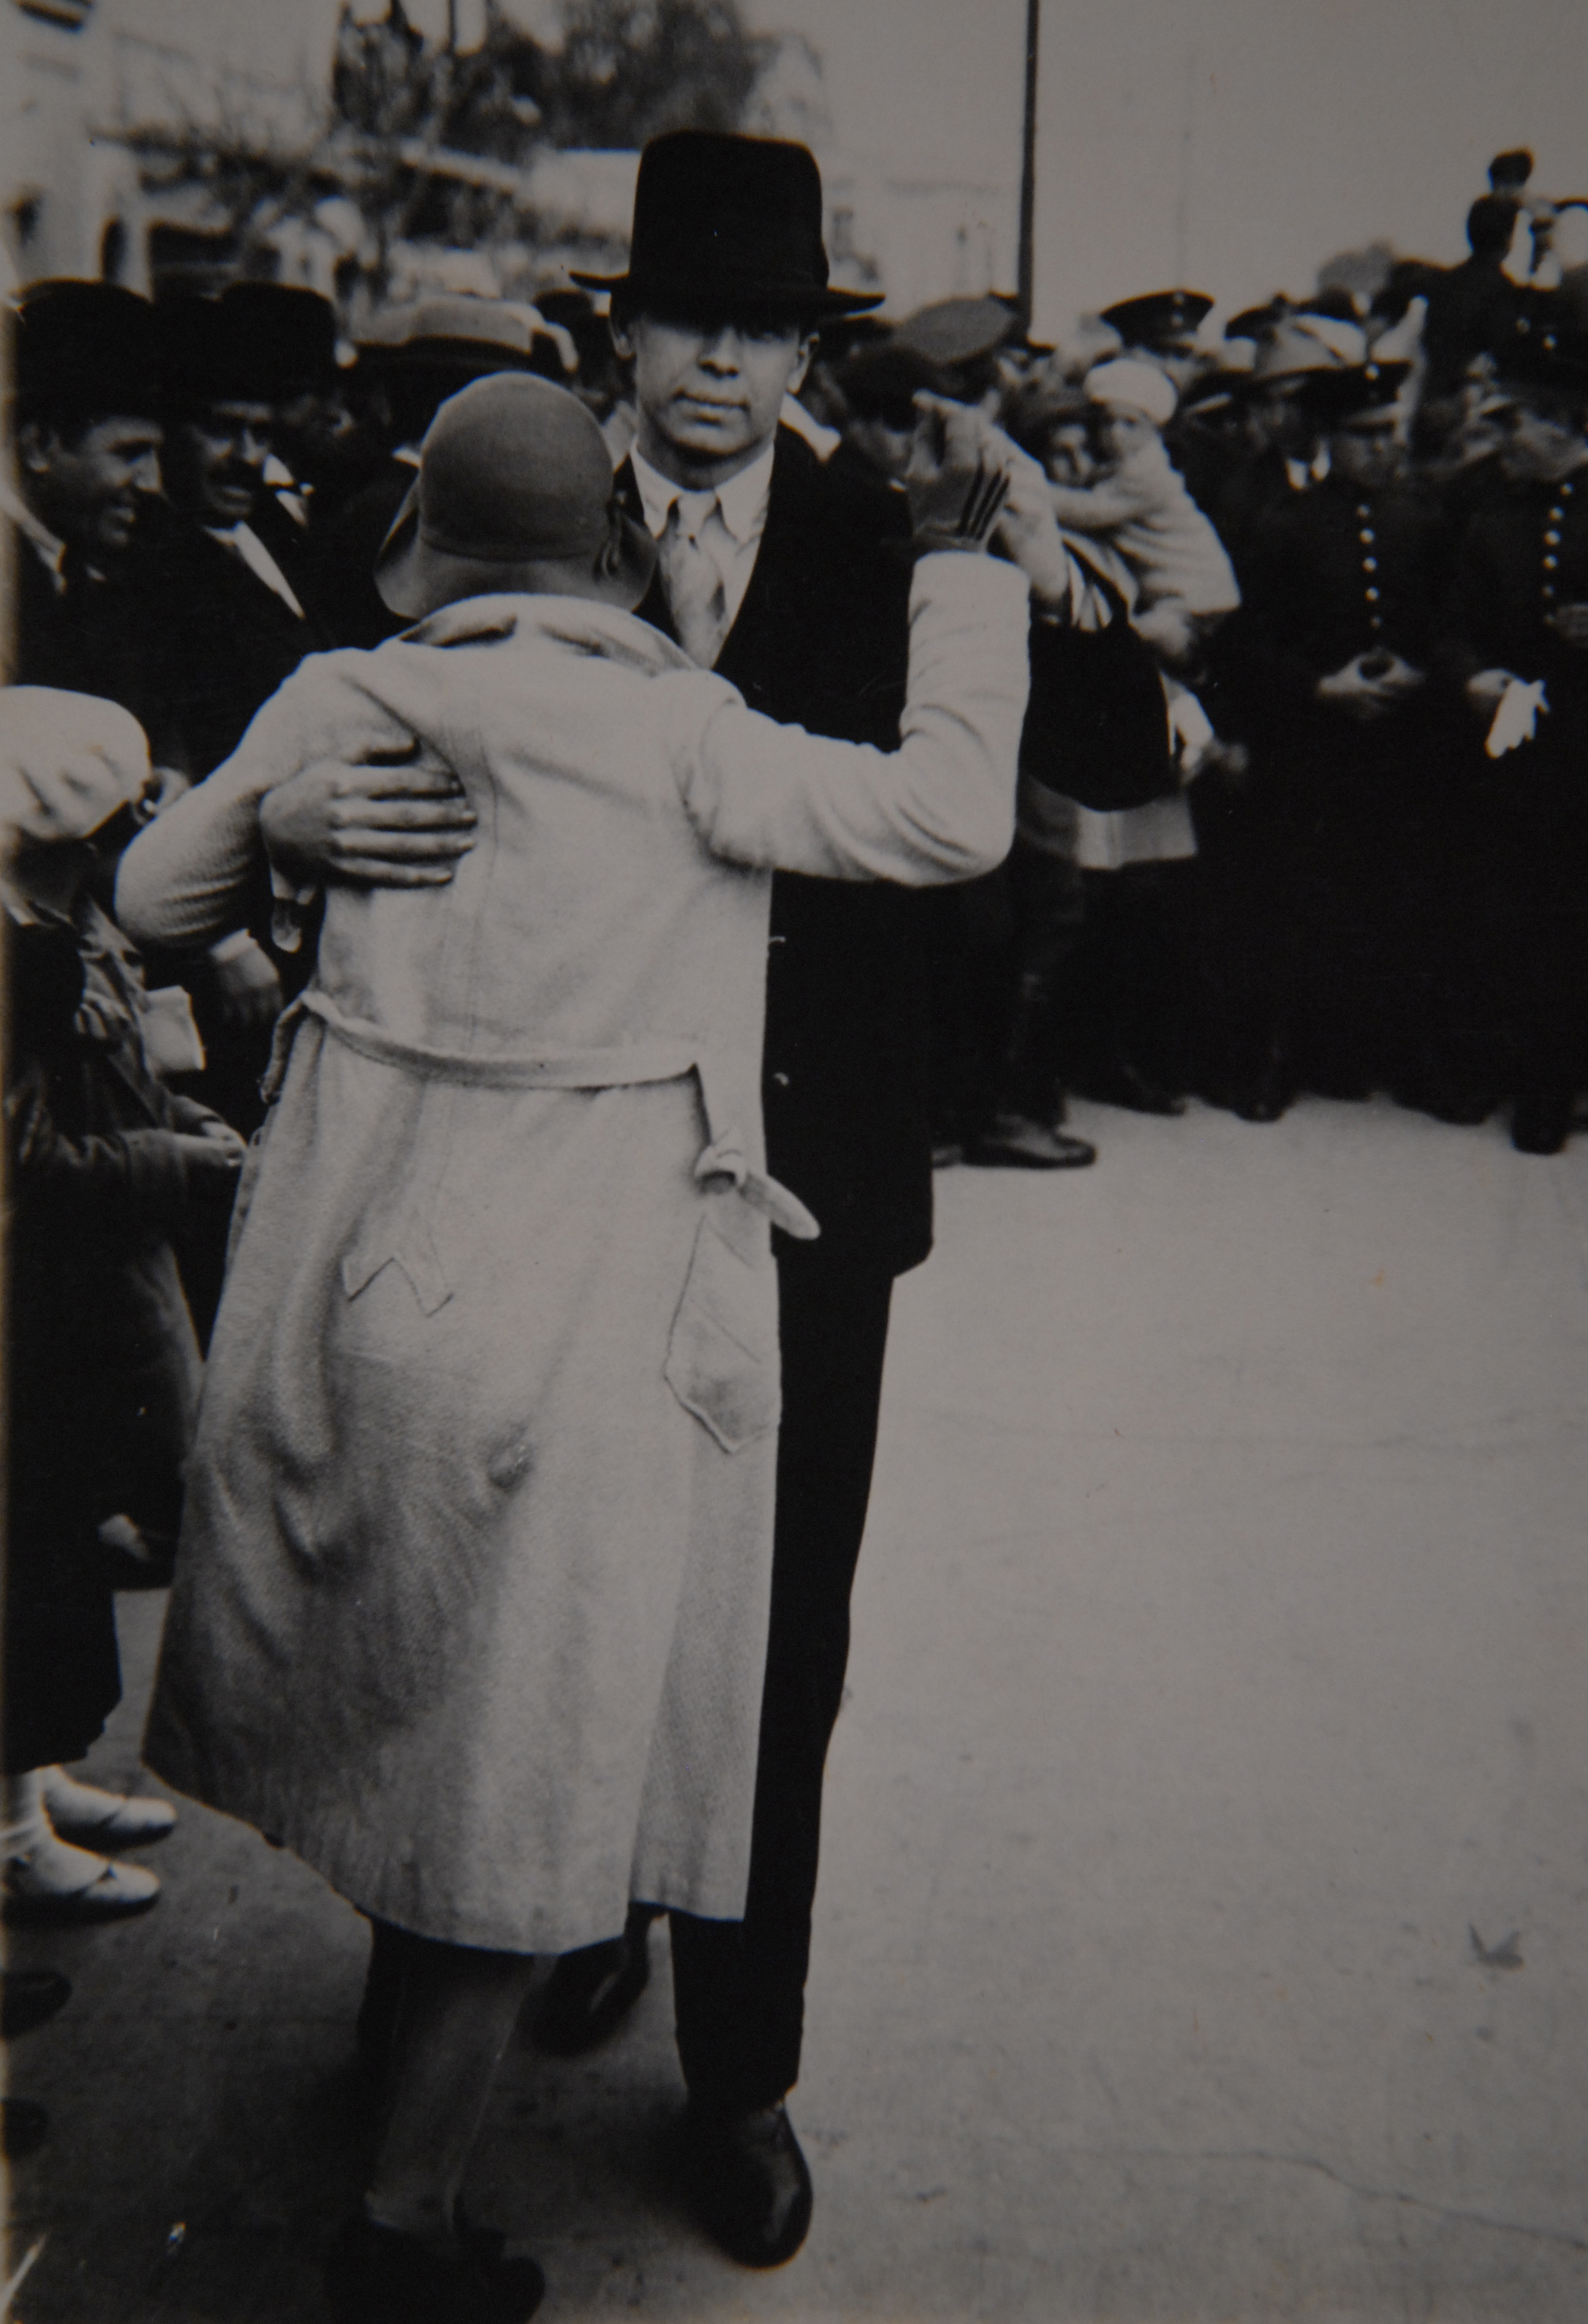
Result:
[[695,1229],[663,1378],[723,1452],[777,1427],[777,1278],[739,1257],[709,1215]]

